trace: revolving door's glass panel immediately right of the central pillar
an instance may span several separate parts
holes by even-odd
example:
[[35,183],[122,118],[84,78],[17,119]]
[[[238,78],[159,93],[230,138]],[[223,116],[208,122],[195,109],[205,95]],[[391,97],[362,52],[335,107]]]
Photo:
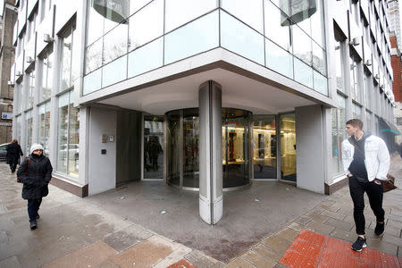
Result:
[[[248,113],[242,110],[222,109],[223,188],[249,183]],[[223,152],[222,151],[222,152]]]

